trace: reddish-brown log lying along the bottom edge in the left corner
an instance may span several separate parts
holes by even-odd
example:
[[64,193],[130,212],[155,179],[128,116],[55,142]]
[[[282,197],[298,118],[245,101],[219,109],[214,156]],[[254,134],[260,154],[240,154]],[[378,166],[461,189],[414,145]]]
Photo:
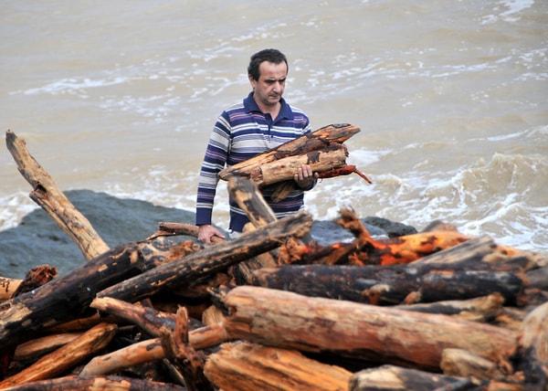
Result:
[[10,391],[185,391],[184,386],[153,382],[128,376],[81,377],[69,375],[9,388]]

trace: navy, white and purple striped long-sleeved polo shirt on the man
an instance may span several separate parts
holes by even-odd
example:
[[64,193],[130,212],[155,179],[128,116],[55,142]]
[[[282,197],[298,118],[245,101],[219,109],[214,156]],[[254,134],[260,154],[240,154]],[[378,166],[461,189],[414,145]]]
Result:
[[[205,149],[204,163],[196,196],[196,225],[211,224],[218,173],[231,165],[264,153],[282,143],[290,142],[311,132],[307,115],[282,98],[278,118],[272,121],[270,114],[258,109],[253,92],[242,102],[223,111],[216,121]],[[270,196],[274,186],[261,188],[265,200],[276,217],[288,217],[304,207],[304,193],[294,190],[282,201],[272,203]],[[233,200],[230,204],[229,229],[241,232],[248,223],[246,213]]]

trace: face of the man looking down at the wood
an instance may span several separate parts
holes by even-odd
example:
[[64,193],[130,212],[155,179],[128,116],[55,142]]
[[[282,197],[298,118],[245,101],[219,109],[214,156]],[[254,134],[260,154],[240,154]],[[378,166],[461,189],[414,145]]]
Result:
[[263,61],[260,63],[258,80],[249,78],[253,87],[255,100],[260,106],[274,106],[278,104],[288,75],[288,67],[285,62],[274,64]]

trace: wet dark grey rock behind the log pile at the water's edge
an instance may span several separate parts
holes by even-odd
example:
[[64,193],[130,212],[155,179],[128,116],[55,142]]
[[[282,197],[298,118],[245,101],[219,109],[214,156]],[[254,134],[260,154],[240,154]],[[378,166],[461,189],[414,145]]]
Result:
[[[110,247],[149,237],[161,221],[195,222],[194,211],[154,206],[146,201],[90,190],[69,190],[65,195]],[[413,227],[385,218],[365,217],[363,221],[374,237],[416,232]],[[333,221],[315,221],[311,237],[323,245],[353,239],[350,232]],[[78,246],[42,209],[29,213],[19,226],[0,232],[0,276],[23,279],[28,269],[42,264],[55,266],[59,274],[64,274],[85,262]]]

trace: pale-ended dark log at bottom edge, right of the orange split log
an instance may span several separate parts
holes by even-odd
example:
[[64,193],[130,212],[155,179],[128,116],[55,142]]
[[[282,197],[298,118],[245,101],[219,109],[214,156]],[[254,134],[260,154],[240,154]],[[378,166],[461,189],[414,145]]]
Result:
[[482,386],[477,380],[431,374],[412,368],[383,365],[354,374],[349,391],[470,390]]

